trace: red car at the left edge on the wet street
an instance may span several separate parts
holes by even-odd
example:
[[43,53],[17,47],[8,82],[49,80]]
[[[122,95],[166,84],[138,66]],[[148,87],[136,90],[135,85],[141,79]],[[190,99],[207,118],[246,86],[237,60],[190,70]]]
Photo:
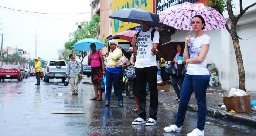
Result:
[[3,65],[0,68],[0,79],[18,79],[22,81],[22,72],[17,65]]

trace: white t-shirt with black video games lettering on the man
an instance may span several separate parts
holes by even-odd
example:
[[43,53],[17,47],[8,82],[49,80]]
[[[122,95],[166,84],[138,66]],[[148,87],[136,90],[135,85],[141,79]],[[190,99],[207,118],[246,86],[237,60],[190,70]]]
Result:
[[157,66],[156,54],[154,54],[151,49],[153,47],[153,43],[159,43],[159,32],[157,30],[155,31],[152,41],[152,30],[153,28],[150,28],[147,32],[140,31],[138,35],[138,42],[136,43],[136,46],[138,46],[135,63],[136,68]]

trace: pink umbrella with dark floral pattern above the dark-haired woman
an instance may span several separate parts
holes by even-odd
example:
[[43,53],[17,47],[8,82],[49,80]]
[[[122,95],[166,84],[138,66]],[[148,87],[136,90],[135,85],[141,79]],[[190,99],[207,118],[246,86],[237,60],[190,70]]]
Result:
[[171,6],[159,13],[160,23],[172,26],[179,30],[191,30],[191,19],[201,15],[205,20],[204,31],[222,29],[227,22],[218,11],[202,3],[185,2]]

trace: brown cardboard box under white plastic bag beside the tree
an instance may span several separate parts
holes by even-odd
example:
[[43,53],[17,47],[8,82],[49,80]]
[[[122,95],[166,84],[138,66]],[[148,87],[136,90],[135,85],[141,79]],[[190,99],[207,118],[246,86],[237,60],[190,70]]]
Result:
[[232,96],[228,97],[228,94],[223,94],[223,103],[228,111],[234,110],[236,112],[251,112],[251,99],[250,95],[245,96]]

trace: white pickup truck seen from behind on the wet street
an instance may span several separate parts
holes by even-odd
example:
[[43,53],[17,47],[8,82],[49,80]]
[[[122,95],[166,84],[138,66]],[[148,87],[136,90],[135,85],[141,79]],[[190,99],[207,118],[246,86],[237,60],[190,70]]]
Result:
[[44,82],[49,82],[49,79],[59,79],[61,78],[62,82],[64,82],[66,77],[66,61],[64,60],[50,60],[47,62],[47,65],[44,69]]

